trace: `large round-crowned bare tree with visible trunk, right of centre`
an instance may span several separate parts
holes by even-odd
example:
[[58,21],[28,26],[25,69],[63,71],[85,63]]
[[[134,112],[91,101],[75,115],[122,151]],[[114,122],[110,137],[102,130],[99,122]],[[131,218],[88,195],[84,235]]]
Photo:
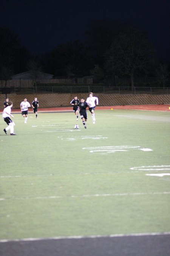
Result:
[[155,49],[145,34],[136,28],[127,27],[126,31],[113,40],[107,51],[105,68],[114,75],[130,75],[133,90],[134,75],[146,72],[154,59]]

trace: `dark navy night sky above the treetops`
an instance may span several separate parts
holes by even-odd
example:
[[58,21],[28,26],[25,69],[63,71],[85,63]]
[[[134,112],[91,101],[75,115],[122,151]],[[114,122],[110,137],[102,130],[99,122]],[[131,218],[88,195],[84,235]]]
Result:
[[89,22],[105,18],[133,21],[147,32],[158,57],[170,60],[170,0],[0,1],[0,26],[15,31],[32,53],[84,41]]

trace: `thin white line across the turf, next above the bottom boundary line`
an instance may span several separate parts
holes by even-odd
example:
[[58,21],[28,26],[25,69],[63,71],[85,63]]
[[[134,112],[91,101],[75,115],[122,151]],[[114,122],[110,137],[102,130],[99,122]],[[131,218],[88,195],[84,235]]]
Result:
[[170,191],[165,192],[136,192],[136,193],[114,193],[114,194],[94,194],[94,195],[70,195],[70,196],[23,196],[0,198],[5,200],[23,200],[23,199],[59,199],[59,198],[84,198],[84,197],[102,197],[102,196],[142,196],[142,195],[169,195]]

